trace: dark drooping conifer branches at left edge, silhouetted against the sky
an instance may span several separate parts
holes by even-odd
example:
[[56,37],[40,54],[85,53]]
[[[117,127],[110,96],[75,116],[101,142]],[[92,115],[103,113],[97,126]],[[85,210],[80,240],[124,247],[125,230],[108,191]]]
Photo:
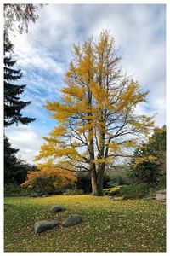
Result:
[[[5,44],[5,53],[11,52],[12,44]],[[20,69],[14,69],[16,61],[13,61],[10,56],[4,57],[4,125],[27,125],[35,119],[24,117],[21,110],[26,108],[31,102],[20,101],[20,94],[26,88],[26,85],[13,84],[22,78]]]

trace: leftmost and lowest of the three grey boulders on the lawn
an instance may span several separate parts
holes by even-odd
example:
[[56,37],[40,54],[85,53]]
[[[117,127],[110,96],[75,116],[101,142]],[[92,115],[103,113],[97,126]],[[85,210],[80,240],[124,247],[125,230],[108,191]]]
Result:
[[42,220],[42,221],[38,221],[34,224],[34,231],[36,234],[39,234],[46,230],[51,230],[57,226],[59,226],[59,224],[56,221]]

